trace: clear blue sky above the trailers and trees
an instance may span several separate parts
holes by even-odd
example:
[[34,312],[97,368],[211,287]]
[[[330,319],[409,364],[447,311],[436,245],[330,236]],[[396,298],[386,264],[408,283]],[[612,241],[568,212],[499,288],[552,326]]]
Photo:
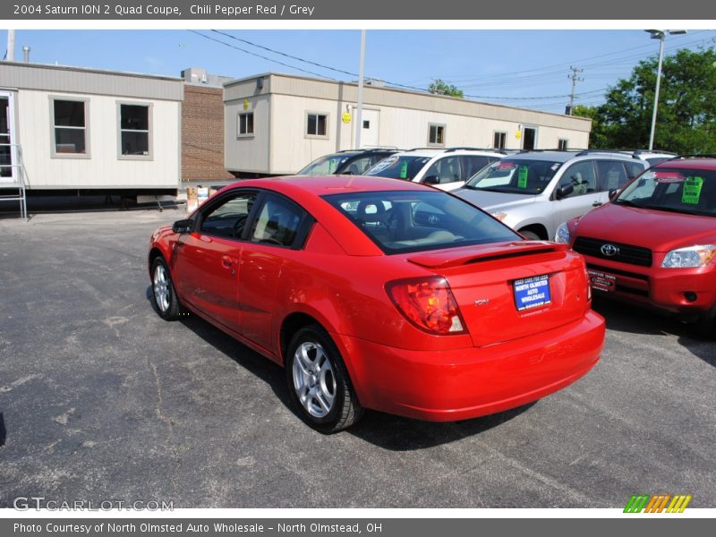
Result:
[[[30,60],[41,64],[169,76],[203,67],[233,78],[269,71],[357,78],[345,72],[358,72],[360,30],[220,31],[233,38],[209,29],[16,30],[15,60],[27,45]],[[3,53],[6,35],[0,30]],[[689,30],[669,36],[666,52],[714,46],[716,31]],[[422,89],[439,78],[475,100],[561,114],[572,90],[570,66],[583,69],[575,104],[596,105],[605,89],[628,78],[635,64],[658,50],[659,42],[644,30],[368,30],[365,72]]]

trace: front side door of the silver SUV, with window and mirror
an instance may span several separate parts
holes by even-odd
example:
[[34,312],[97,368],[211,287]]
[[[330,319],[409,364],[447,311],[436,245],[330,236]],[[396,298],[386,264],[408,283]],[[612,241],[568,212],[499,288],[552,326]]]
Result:
[[[568,185],[573,187],[573,191],[559,199],[559,189]],[[551,200],[555,227],[599,207],[602,200],[594,160],[590,158],[567,166],[559,177]]]

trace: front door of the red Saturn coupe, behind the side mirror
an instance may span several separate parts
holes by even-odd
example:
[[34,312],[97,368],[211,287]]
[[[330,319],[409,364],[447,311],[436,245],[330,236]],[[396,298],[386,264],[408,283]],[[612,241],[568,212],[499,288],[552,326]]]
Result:
[[240,322],[239,260],[258,195],[221,194],[200,209],[192,233],[176,243],[173,272],[182,300],[233,330]]

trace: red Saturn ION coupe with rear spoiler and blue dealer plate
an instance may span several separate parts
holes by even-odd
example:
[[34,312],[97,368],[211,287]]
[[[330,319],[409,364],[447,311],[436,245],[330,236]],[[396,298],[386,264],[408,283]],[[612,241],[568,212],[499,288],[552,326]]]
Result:
[[370,408],[455,421],[535,401],[599,360],[584,260],[417,183],[234,183],[149,244],[159,315],[183,308],[286,369],[323,432]]

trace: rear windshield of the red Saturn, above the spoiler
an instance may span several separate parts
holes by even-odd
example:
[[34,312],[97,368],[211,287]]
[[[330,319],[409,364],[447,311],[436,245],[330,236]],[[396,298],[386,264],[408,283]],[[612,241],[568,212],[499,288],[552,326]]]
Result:
[[351,192],[323,198],[388,254],[522,240],[447,192]]

